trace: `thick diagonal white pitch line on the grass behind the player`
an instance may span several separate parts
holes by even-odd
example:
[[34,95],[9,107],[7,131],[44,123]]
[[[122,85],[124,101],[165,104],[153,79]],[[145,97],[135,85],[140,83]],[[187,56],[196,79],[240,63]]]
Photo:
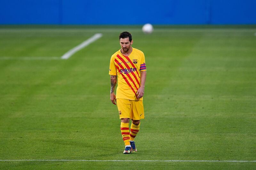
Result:
[[78,46],[72,48],[71,50],[69,50],[67,53],[65,53],[64,55],[61,56],[61,59],[68,59],[69,57],[71,57],[71,55],[75,54],[77,51],[81,50],[82,48],[88,46],[89,44],[91,44],[92,42],[98,40],[100,37],[102,37],[101,33],[96,33],[95,35],[93,35],[91,38],[87,39],[86,41],[82,42],[81,44],[79,44]]

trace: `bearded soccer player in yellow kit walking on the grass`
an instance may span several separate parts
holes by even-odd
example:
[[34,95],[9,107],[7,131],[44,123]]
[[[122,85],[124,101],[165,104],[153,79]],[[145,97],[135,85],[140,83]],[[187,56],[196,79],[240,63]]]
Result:
[[[146,63],[142,51],[132,48],[132,35],[120,33],[121,49],[111,56],[109,75],[111,82],[110,100],[117,104],[121,119],[121,134],[124,140],[124,154],[137,152],[134,138],[140,130],[140,119],[144,119],[143,98],[146,81]],[[118,85],[114,93],[116,82]],[[132,119],[131,131],[129,122]]]

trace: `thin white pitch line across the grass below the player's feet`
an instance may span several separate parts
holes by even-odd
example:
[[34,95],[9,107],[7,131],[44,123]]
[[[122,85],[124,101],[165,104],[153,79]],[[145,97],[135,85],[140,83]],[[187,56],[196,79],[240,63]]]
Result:
[[256,162],[256,160],[72,160],[72,159],[20,159],[0,161],[84,161],[84,162]]

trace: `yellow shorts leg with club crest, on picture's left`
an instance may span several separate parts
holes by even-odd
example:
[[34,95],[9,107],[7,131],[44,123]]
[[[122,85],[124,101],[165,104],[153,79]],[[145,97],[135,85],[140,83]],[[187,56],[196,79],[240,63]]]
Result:
[[118,108],[119,118],[130,118],[131,102],[127,99],[116,99],[116,105]]

